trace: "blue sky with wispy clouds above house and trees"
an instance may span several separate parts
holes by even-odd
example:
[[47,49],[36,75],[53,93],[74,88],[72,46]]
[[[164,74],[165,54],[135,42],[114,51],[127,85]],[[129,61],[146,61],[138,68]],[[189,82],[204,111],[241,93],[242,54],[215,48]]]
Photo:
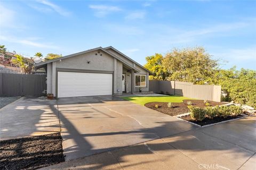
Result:
[[256,70],[256,1],[0,1],[0,44],[25,56],[113,46],[140,64],[203,46]]

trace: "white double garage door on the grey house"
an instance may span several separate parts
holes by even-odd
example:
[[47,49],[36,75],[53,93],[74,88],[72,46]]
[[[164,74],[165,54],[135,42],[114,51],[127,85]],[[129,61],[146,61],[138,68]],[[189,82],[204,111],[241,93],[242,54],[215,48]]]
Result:
[[58,72],[58,97],[112,95],[112,74]]

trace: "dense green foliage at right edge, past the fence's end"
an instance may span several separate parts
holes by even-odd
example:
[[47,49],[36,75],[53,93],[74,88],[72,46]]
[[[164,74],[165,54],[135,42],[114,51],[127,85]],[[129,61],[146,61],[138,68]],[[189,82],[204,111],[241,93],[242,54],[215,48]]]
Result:
[[226,94],[222,97],[225,101],[235,101],[256,108],[256,71],[249,69],[219,70],[214,75],[214,83],[221,85],[221,90]]

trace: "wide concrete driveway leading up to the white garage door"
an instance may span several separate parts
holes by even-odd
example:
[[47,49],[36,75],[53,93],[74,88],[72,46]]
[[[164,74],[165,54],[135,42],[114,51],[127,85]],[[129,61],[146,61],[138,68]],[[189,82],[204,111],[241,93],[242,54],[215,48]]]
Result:
[[114,96],[58,99],[66,160],[167,137],[196,128]]

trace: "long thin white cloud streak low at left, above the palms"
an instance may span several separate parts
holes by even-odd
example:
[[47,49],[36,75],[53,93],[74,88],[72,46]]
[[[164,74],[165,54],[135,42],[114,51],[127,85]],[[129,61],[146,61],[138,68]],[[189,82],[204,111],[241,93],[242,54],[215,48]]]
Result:
[[49,45],[49,44],[37,43],[35,41],[29,40],[29,38],[27,38],[27,39],[18,39],[18,38],[13,38],[13,37],[0,36],[0,40],[1,41],[7,41],[7,42],[10,42],[10,43],[18,43],[18,44],[21,44],[21,45],[29,45],[29,46],[33,46],[33,47],[39,47],[39,48],[51,48],[51,49],[59,48],[57,46],[53,46],[53,45]]

